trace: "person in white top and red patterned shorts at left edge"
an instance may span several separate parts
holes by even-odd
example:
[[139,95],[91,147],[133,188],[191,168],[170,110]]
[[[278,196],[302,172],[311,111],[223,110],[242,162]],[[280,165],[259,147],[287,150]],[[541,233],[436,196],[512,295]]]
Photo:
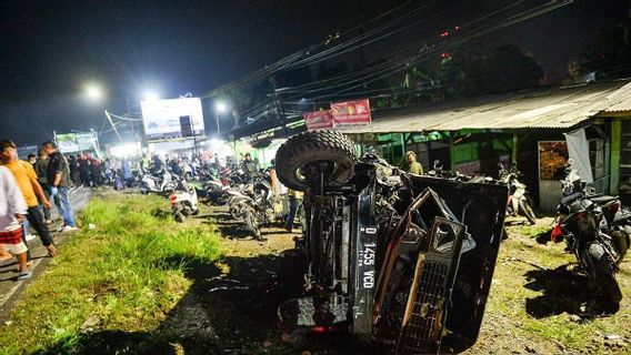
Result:
[[18,257],[18,280],[31,277],[27,262],[28,247],[22,240],[20,225],[27,214],[27,203],[20,193],[16,178],[6,166],[0,166],[0,248]]

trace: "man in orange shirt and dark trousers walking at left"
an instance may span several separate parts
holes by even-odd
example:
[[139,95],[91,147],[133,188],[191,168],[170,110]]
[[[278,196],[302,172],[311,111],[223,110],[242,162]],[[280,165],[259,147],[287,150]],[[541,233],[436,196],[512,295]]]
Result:
[[[18,185],[27,201],[27,219],[33,229],[38,232],[43,246],[48,248],[49,256],[54,256],[59,253],[59,250],[54,246],[52,237],[43,222],[43,216],[39,210],[38,196],[42,202],[44,207],[50,209],[50,202],[48,201],[41,185],[38,182],[38,176],[33,170],[33,166],[28,162],[17,159],[16,154],[16,143],[10,140],[0,141],[0,160],[2,164],[13,173]],[[26,244],[26,240],[24,240]],[[30,253],[28,254],[28,260],[31,260]]]

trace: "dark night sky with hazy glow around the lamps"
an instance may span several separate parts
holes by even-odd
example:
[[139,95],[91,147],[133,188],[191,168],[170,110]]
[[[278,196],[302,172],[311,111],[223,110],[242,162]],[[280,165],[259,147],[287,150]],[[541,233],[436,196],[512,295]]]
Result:
[[[36,144],[53,130],[99,131],[103,110],[123,113],[126,97],[137,111],[147,88],[164,99],[203,94],[402,2],[2,1],[0,135]],[[507,1],[461,2],[475,8]],[[599,26],[624,16],[623,2],[579,1],[480,41],[517,44],[547,72],[563,72],[594,41]],[[443,19],[469,16],[475,14],[445,13],[423,29],[438,31]],[[431,34],[401,33],[368,55],[383,57],[377,51],[389,43]],[[101,83],[106,101],[86,100],[88,81]]]

